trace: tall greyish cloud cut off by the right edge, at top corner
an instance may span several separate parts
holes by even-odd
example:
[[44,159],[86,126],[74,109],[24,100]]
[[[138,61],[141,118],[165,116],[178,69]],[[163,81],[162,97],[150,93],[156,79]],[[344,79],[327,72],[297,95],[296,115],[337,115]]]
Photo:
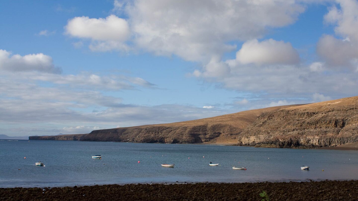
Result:
[[318,54],[333,67],[358,67],[358,1],[337,0],[324,16],[326,23],[335,25],[335,34],[324,35],[317,44]]

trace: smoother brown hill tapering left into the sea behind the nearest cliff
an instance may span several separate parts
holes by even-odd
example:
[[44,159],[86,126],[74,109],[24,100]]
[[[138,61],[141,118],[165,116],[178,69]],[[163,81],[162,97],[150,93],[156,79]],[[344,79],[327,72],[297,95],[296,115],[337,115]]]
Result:
[[[298,106],[298,105],[295,105]],[[167,124],[95,130],[89,134],[38,136],[29,139],[115,141],[141,143],[231,143],[257,117],[292,106],[254,109],[217,117]]]

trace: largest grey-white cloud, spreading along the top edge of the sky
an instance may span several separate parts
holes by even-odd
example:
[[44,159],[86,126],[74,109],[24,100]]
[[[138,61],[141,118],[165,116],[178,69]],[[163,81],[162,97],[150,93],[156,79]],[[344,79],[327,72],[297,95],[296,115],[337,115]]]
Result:
[[260,38],[267,28],[293,23],[304,7],[286,0],[137,0],[126,11],[140,48],[206,61],[232,51],[228,41]]

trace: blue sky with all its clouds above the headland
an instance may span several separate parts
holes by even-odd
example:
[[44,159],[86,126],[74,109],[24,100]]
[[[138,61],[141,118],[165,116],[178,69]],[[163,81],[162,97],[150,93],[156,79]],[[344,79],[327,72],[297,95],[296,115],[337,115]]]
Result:
[[0,134],[8,136],[358,92],[358,0],[6,0],[0,18]]

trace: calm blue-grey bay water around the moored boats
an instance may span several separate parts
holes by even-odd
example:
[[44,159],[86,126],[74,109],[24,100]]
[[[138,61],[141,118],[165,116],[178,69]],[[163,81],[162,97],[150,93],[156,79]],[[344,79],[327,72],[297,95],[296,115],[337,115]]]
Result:
[[[357,151],[18,140],[0,141],[0,154],[0,187],[358,179]],[[45,167],[35,166],[38,161]]]

